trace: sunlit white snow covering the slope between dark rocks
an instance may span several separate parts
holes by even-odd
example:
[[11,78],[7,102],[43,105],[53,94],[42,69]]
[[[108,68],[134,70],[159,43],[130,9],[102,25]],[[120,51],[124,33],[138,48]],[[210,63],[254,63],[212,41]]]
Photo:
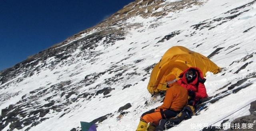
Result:
[[[174,0],[166,1],[173,2]],[[201,53],[204,56],[210,55],[219,47],[224,47],[224,49],[220,50],[220,53],[211,58],[214,63],[224,68],[224,70],[218,74],[207,73],[205,85],[208,96],[214,96],[215,94],[227,90],[227,88],[218,89],[230,82],[231,84],[235,84],[238,80],[248,76],[248,74],[256,72],[256,27],[254,27],[256,26],[256,3],[239,9],[239,12],[234,14],[243,13],[234,19],[213,21],[217,18],[226,18],[234,15],[230,14],[228,11],[252,1],[253,0],[205,0],[205,3],[201,6],[194,5],[191,8],[170,12],[161,19],[143,19],[140,16],[130,18],[125,21],[127,24],[141,23],[143,26],[136,29],[129,29],[124,40],[116,41],[114,45],[107,48],[104,47],[103,40],[100,41],[98,43],[99,46],[96,47],[94,52],[101,55],[93,58],[95,63],[90,64],[89,60],[84,60],[82,56],[76,57],[77,54],[81,52],[80,49],[77,49],[72,54],[72,57],[68,58],[68,66],[63,66],[62,63],[59,63],[56,68],[41,69],[39,74],[24,78],[22,82],[11,83],[12,81],[10,81],[11,84],[8,85],[8,88],[1,89],[0,94],[15,94],[18,92],[18,96],[1,100],[0,109],[8,107],[10,104],[15,104],[21,100],[22,96],[29,94],[29,92],[36,88],[41,87],[42,89],[46,89],[52,84],[69,80],[72,82],[71,85],[78,88],[77,91],[81,92],[81,94],[83,92],[95,93],[98,90],[98,88],[93,89],[95,86],[100,85],[100,88],[108,87],[104,85],[104,79],[111,78],[115,76],[116,73],[103,74],[89,86],[76,85],[75,83],[84,80],[84,77],[88,74],[104,72],[111,66],[116,65],[117,68],[128,70],[122,74],[125,79],[112,84],[111,88],[115,88],[115,90],[112,90],[111,93],[108,94],[111,95],[110,97],[103,98],[103,94],[99,94],[93,96],[91,100],[79,98],[76,102],[64,108],[69,108],[70,112],[63,117],[60,117],[60,115],[67,111],[62,110],[61,112],[55,112],[50,110],[50,112],[44,116],[50,119],[46,119],[42,123],[31,127],[30,131],[70,131],[72,128],[80,127],[80,121],[90,122],[108,113],[112,113],[113,117],[108,117],[108,119],[99,123],[97,127],[98,131],[134,131],[142,113],[161,105],[159,100],[151,100],[151,95],[146,89],[150,74],[143,69],[154,63],[158,63],[165,51],[172,46],[181,45],[192,51]],[[226,20],[227,22],[224,22]],[[150,27],[153,23],[158,23],[158,26],[154,28]],[[192,25],[199,23],[206,23],[205,25],[210,23],[210,26],[203,29],[193,29],[194,26]],[[210,29],[210,27],[213,26],[216,27]],[[251,27],[253,28],[244,32]],[[179,31],[180,34],[169,40],[158,43],[165,35],[174,31]],[[130,51],[128,51],[129,49]],[[250,54],[253,54],[253,57],[242,61],[246,55]],[[142,62],[134,63],[134,61],[142,59]],[[51,61],[54,61],[54,58],[48,58],[47,61],[47,63],[50,64]],[[118,63],[119,61],[121,62]],[[233,63],[233,61],[236,62]],[[248,66],[236,74],[235,72],[246,63],[249,63]],[[40,63],[38,66],[40,66]],[[126,73],[132,73],[134,70],[140,73],[140,75],[127,78]],[[54,72],[58,73],[54,74]],[[22,74],[20,74],[19,77],[22,77]],[[146,80],[142,81],[145,77]],[[242,85],[253,80],[256,80],[256,78],[248,79]],[[5,84],[7,83],[8,82]],[[211,125],[230,115],[256,100],[256,84],[254,83],[236,94],[231,94],[214,104],[209,104],[207,110],[202,110],[199,115],[183,121],[180,125],[168,131],[199,131],[200,129],[192,129],[191,125]],[[122,90],[127,84],[131,84],[132,86]],[[52,94],[39,98],[34,101],[34,104],[47,104],[48,102],[44,99],[53,94],[58,94],[58,92],[52,92]],[[76,97],[76,95],[72,95],[69,99]],[[60,94],[51,100],[66,101],[64,97],[60,97]],[[148,106],[144,104],[146,101],[149,102]],[[116,117],[120,114],[117,113],[118,109],[127,103],[130,103],[132,107],[124,111],[130,111],[130,113],[124,115],[122,119],[117,120]],[[246,106],[246,108],[230,115],[226,119],[230,119],[228,122],[231,122],[235,118],[249,115],[249,108],[250,106]],[[9,129],[9,126],[2,131],[7,131],[7,129]],[[26,128],[19,131],[24,131],[25,129]]]

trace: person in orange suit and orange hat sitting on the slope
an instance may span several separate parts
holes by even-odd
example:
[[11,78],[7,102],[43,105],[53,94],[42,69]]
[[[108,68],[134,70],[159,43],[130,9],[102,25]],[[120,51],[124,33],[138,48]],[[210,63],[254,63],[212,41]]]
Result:
[[143,113],[136,131],[154,131],[160,119],[175,117],[188,103],[188,91],[177,83],[175,75],[166,76],[166,84],[169,88],[164,103],[156,109]]

